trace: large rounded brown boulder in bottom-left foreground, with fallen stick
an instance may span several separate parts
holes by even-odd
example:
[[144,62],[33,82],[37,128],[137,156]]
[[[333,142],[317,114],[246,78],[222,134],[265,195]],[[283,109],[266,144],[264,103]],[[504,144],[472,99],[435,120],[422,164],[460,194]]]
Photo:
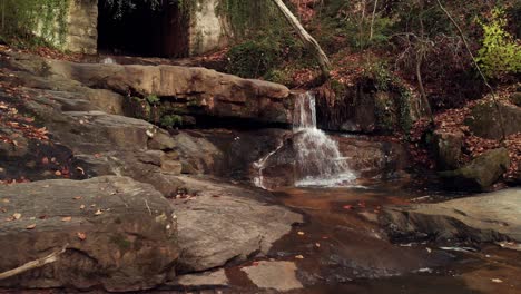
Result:
[[106,176],[0,186],[0,195],[1,272],[66,247],[57,262],[3,287],[139,291],[175,273],[176,216],[150,185]]

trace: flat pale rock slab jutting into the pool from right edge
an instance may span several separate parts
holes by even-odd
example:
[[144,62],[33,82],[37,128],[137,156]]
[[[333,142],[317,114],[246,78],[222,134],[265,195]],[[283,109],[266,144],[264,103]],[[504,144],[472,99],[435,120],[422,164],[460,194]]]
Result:
[[521,189],[511,188],[439,204],[385,207],[380,220],[395,236],[474,242],[521,242]]

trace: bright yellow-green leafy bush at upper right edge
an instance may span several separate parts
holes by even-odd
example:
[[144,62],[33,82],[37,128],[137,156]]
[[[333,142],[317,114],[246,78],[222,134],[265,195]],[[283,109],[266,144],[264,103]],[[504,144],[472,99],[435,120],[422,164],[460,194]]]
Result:
[[488,22],[479,21],[483,28],[483,45],[478,61],[489,78],[521,72],[521,46],[507,30],[504,10],[494,8]]

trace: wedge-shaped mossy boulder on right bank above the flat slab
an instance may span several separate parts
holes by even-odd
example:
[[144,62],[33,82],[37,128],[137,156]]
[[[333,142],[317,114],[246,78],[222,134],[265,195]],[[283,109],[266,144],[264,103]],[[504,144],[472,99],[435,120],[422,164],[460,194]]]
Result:
[[489,150],[462,168],[440,173],[442,179],[453,188],[486,190],[510,167],[505,148]]

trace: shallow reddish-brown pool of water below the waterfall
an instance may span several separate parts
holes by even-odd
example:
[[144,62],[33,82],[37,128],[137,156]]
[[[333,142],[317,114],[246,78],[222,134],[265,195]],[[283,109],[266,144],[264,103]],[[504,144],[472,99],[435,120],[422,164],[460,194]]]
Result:
[[[376,222],[385,205],[435,202],[445,195],[399,182],[363,185],[275,192],[284,205],[306,215],[305,224],[260,258],[296,263],[304,288],[288,293],[521,293],[521,252],[493,244],[454,252],[440,247],[460,244],[392,243]],[[259,293],[240,266],[228,268],[227,275],[234,287],[224,293]]]

